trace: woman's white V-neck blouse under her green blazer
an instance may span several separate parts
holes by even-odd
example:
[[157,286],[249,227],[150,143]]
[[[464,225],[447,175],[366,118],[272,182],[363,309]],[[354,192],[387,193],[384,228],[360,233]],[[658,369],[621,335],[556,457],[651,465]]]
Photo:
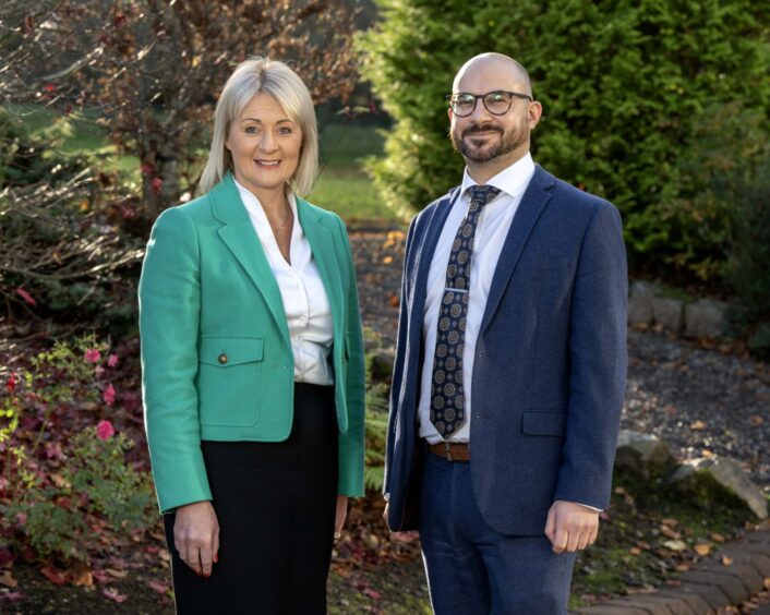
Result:
[[328,361],[334,341],[332,305],[297,216],[294,195],[288,195],[294,220],[289,264],[278,249],[260,200],[240,183],[236,185],[278,282],[294,355],[294,382],[333,385],[334,372]]

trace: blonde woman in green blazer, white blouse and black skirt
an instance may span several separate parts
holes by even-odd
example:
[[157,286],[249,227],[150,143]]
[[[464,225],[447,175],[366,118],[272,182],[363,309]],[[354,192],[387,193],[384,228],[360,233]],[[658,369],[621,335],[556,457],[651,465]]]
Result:
[[363,493],[364,371],[345,226],[303,201],[308,88],[253,59],[217,104],[195,201],[157,219],[140,282],[147,439],[179,613],[325,613]]

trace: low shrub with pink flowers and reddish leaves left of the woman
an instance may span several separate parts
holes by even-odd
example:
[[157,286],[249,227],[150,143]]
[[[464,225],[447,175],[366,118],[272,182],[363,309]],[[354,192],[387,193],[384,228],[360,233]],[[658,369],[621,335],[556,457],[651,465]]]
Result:
[[152,482],[127,461],[133,442],[97,419],[116,403],[117,358],[93,338],[57,343],[5,382],[0,407],[0,533],[39,558],[88,563],[105,534],[155,521]]

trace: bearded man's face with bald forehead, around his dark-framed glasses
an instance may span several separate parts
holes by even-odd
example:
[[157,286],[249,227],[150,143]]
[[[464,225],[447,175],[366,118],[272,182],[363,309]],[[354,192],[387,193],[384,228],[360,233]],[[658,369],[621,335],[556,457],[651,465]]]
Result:
[[[486,94],[494,91],[527,94],[508,67],[494,61],[471,64],[455,82],[455,93]],[[488,162],[500,158],[517,159],[529,150],[529,134],[539,119],[530,112],[528,100],[513,98],[503,116],[491,113],[481,98],[470,116],[459,118],[449,110],[452,143],[468,161]],[[537,104],[534,104],[537,105]]]

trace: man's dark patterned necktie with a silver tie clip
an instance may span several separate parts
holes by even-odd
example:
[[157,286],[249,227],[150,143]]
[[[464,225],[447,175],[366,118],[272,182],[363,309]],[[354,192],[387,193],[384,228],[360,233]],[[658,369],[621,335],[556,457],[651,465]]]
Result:
[[438,314],[436,352],[433,358],[431,384],[431,423],[444,439],[449,439],[466,422],[462,391],[462,351],[466,338],[468,292],[470,290],[470,261],[473,237],[481,208],[500,190],[491,185],[468,189],[468,216],[457,229],[446,268],[446,285]]

